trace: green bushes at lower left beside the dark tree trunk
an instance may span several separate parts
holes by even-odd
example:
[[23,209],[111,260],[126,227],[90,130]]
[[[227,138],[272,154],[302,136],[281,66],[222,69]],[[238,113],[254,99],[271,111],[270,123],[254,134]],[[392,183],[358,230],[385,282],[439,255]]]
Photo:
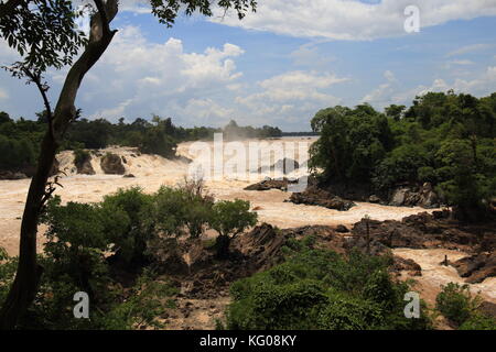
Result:
[[[160,328],[157,317],[174,305],[171,297],[176,293],[155,273],[160,251],[171,243],[168,240],[197,238],[208,228],[234,235],[255,224],[256,213],[246,201],[214,204],[202,183],[185,182],[152,195],[138,187],[120,189],[98,204],[63,206],[56,196],[47,202],[41,222],[47,226],[44,251],[37,258],[44,273],[34,304],[19,327]],[[1,249],[0,302],[15,268],[17,258]],[[89,320],[73,316],[77,292],[89,296]]]

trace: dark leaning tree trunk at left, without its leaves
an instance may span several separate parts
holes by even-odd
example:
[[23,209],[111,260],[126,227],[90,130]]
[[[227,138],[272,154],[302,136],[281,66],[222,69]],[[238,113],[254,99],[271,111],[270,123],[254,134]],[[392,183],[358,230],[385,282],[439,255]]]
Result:
[[67,73],[58,101],[43,139],[36,173],[31,179],[21,223],[19,264],[12,287],[0,310],[0,329],[13,329],[33,302],[43,268],[36,264],[36,230],[46,182],[53,166],[57,142],[76,117],[74,102],[85,74],[101,57],[117,31],[109,22],[117,14],[117,0],[95,0],[98,12],[91,16],[89,43]]

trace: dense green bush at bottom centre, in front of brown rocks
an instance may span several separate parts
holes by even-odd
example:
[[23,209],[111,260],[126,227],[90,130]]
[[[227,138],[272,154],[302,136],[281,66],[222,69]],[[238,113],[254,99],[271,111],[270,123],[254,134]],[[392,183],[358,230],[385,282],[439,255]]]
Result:
[[403,315],[406,283],[391,280],[390,257],[353,252],[344,257],[293,241],[290,257],[231,285],[228,329],[430,329]]

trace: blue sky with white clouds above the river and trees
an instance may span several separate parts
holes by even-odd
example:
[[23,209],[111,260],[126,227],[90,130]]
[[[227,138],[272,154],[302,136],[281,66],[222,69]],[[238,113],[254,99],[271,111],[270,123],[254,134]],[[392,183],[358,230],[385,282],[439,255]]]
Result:
[[[418,9],[419,31],[414,24]],[[413,21],[413,22],[412,22]],[[320,110],[411,105],[427,91],[496,91],[496,0],[258,0],[256,13],[160,24],[144,0],[121,0],[119,32],[86,75],[87,119],[152,114],[183,127],[277,125],[310,131]],[[19,59],[0,43],[0,63]],[[67,68],[45,78],[52,105]],[[34,86],[0,73],[0,111],[34,119]]]

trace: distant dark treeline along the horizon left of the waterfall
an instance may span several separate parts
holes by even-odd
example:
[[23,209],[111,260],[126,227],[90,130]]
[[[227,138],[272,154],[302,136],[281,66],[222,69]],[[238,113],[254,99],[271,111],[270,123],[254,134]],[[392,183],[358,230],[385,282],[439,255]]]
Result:
[[[30,176],[37,160],[40,144],[46,131],[44,112],[36,113],[36,120],[20,118],[13,120],[7,112],[0,112],[0,172],[22,172]],[[234,120],[220,128],[182,128],[171,118],[153,116],[151,121],[142,118],[131,123],[120,119],[111,123],[105,119],[74,121],[65,135],[61,150],[104,148],[109,145],[138,147],[142,153],[173,157],[177,143],[184,141],[212,140],[214,133],[224,132],[225,140],[247,138],[279,138],[278,128],[239,127]]]

